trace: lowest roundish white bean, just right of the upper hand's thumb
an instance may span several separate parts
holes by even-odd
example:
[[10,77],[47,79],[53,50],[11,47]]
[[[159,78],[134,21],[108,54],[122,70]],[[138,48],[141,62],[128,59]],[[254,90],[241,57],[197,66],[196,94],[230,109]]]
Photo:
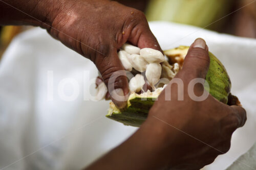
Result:
[[144,77],[140,74],[137,74],[135,77],[133,77],[129,82],[129,88],[131,91],[139,92],[143,89],[143,86],[145,84]]

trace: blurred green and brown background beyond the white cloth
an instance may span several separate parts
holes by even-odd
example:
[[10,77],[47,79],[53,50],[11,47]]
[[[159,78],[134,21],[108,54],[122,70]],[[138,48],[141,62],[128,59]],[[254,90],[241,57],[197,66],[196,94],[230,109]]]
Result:
[[[172,21],[220,33],[256,38],[254,0],[119,0],[118,2],[143,11],[148,21]],[[12,38],[29,28],[28,26],[0,27],[0,58]]]

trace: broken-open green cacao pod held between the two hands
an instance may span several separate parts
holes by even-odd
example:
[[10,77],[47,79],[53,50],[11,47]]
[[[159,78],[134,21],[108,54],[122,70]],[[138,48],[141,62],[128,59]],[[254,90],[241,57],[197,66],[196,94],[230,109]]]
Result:
[[[164,51],[164,54],[167,56],[169,63],[178,63],[182,67],[188,48],[189,46],[179,46]],[[210,52],[209,57],[210,65],[206,75],[206,81],[209,86],[205,86],[205,90],[220,102],[227,104],[231,88],[229,76],[222,63]],[[159,87],[153,92],[147,91],[141,94],[130,94],[127,106],[123,110],[119,110],[114,103],[111,102],[106,117],[114,119],[124,125],[139,127],[146,119],[148,111],[162,90],[163,87]]]

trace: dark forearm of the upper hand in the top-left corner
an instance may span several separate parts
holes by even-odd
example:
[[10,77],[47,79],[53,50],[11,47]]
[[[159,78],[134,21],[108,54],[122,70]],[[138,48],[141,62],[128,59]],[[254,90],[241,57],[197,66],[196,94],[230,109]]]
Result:
[[0,25],[33,25],[48,28],[58,14],[59,4],[51,0],[1,0]]

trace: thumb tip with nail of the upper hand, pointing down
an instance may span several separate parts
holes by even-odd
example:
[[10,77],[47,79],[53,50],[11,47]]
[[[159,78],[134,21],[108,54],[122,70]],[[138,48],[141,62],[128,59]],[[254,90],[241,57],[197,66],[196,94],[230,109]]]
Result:
[[124,95],[123,89],[117,88],[111,92],[112,101],[115,105],[122,109],[127,104],[127,96]]

